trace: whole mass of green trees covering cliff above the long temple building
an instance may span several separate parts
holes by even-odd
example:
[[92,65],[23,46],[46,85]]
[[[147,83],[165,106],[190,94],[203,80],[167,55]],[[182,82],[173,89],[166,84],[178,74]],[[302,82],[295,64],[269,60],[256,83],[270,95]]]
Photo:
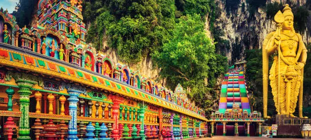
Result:
[[214,1],[205,0],[84,1],[84,22],[90,25],[86,40],[98,50],[116,48],[127,63],[151,55],[167,87],[180,83],[199,107],[210,110],[216,78],[227,68],[227,58],[215,54],[204,31],[212,4],[215,7]]

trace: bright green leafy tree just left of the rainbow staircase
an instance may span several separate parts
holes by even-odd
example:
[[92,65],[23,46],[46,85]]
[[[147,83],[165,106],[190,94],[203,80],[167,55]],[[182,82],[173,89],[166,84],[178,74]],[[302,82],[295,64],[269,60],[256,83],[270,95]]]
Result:
[[200,15],[182,16],[175,25],[173,39],[155,51],[154,62],[161,67],[160,75],[174,88],[180,83],[190,99],[199,107],[210,110],[216,78],[227,68],[227,58],[214,53],[215,46],[204,31]]

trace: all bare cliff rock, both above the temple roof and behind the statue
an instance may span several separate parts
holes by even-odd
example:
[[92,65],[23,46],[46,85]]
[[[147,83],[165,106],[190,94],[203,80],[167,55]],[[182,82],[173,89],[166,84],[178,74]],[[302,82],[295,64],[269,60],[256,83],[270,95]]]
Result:
[[[282,2],[285,4],[288,0],[267,0],[268,3]],[[306,0],[291,0],[293,5],[305,5]],[[236,10],[228,12],[226,10],[225,0],[215,0],[216,7],[220,8],[220,16],[215,19],[214,27],[221,28],[224,31],[224,35],[221,37],[224,40],[229,41],[230,47],[225,50],[221,50],[224,53],[229,63],[234,63],[238,59],[243,59],[246,49],[260,49],[266,35],[275,30],[275,22],[267,18],[264,8],[258,8],[253,15],[248,12],[250,5],[246,0],[240,0],[239,6]],[[210,30],[209,16],[205,16],[205,30],[207,37],[213,39],[212,31]],[[302,34],[304,43],[311,41],[311,14],[308,17],[307,29]],[[239,50],[234,48],[234,44],[239,45]],[[104,46],[106,42],[104,42]],[[120,59],[113,48],[105,49],[104,53],[109,54],[114,64],[120,62]],[[239,54],[236,54],[239,53]],[[123,62],[120,62],[123,63]],[[124,63],[123,63],[124,64]],[[129,65],[129,64],[128,64]],[[129,65],[132,71],[139,70],[142,76],[151,78],[153,80],[159,78],[159,68],[152,67],[152,61],[150,56],[145,56],[137,64]],[[161,81],[160,83],[165,84]]]

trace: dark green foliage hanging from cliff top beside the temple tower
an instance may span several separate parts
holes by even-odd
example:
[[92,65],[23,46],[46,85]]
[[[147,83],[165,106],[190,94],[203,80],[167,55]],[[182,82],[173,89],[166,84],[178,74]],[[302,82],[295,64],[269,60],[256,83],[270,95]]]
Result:
[[[93,5],[94,3],[100,5]],[[140,61],[143,55],[159,49],[170,39],[175,23],[174,1],[110,0],[85,3],[84,17],[91,22],[87,42],[103,49],[103,38],[108,46],[117,49],[119,57],[129,63]]]

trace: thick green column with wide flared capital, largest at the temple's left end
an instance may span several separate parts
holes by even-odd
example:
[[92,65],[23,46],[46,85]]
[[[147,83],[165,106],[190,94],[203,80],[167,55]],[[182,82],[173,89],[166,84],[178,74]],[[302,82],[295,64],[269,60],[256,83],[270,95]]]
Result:
[[30,139],[29,133],[29,96],[32,94],[30,88],[36,85],[38,82],[35,82],[37,78],[33,75],[15,73],[13,78],[17,83],[19,90],[19,110],[21,112],[21,117],[19,120],[19,131],[17,139]]

